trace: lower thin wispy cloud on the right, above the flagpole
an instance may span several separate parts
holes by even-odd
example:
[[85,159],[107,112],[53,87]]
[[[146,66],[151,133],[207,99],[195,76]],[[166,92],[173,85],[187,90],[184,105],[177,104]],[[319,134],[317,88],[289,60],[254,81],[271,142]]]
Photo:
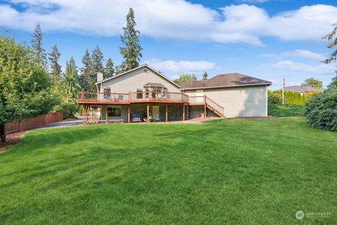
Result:
[[291,70],[297,72],[308,72],[316,75],[331,75],[336,70],[335,67],[329,64],[308,65],[305,63],[296,63],[292,60],[281,60],[275,64],[270,65],[272,68],[279,70]]

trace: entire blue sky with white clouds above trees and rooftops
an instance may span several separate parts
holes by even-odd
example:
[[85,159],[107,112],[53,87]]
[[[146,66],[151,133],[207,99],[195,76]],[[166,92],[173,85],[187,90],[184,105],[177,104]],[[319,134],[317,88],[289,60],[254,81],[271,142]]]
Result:
[[132,7],[141,32],[143,58],[174,79],[190,72],[201,78],[241,72],[267,79],[271,89],[301,84],[315,77],[329,84],[336,64],[324,34],[337,23],[336,1],[312,0],[0,0],[0,27],[20,41],[30,41],[36,23],[44,30],[44,49],[53,44],[60,64],[96,45],[105,59],[121,63],[119,46],[125,15]]

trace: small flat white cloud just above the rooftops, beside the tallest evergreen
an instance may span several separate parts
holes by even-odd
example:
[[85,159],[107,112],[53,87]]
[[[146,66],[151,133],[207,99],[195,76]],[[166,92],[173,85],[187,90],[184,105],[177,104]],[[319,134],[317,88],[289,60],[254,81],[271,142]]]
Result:
[[202,72],[212,70],[216,68],[216,64],[207,62],[204,60],[199,61],[185,61],[185,60],[159,60],[157,58],[152,58],[146,62],[151,65],[156,70],[161,70],[163,72],[171,72],[176,75],[181,75],[183,73],[194,73],[196,75]]

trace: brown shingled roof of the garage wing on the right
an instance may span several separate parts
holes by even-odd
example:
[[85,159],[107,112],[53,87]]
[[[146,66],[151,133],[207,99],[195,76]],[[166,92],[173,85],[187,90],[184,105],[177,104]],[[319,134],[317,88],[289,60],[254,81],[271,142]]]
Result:
[[180,84],[181,89],[209,89],[209,88],[219,88],[219,87],[229,87],[229,86],[251,86],[266,84],[270,85],[272,82],[268,82],[263,79],[258,79],[255,77],[249,77],[242,75],[240,73],[227,73],[222,75],[217,75],[211,79],[205,79],[196,82],[190,82],[185,84]]

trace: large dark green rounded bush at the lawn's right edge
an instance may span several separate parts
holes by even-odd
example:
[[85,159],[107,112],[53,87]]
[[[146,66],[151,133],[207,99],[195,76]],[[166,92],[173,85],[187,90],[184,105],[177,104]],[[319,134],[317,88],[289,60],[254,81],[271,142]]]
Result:
[[305,103],[305,117],[312,127],[337,131],[337,86],[312,95]]

